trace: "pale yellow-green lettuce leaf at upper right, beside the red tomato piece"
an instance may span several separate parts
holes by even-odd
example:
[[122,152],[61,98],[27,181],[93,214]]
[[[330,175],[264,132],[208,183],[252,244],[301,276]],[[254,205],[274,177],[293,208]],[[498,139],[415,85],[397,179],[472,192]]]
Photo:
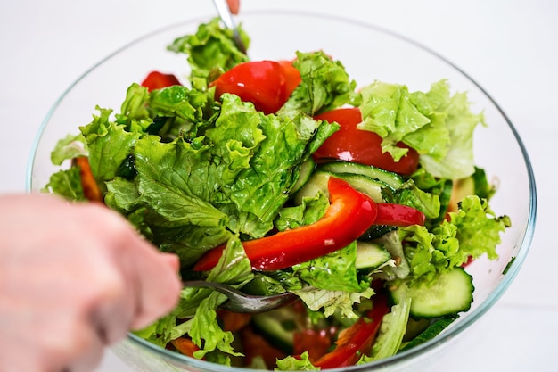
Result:
[[421,154],[421,165],[434,177],[472,175],[472,133],[484,125],[484,117],[471,112],[467,95],[451,95],[446,80],[432,84],[426,93],[376,81],[361,95],[363,122],[358,128],[382,136],[384,152],[400,159],[407,152],[397,146],[403,142]]

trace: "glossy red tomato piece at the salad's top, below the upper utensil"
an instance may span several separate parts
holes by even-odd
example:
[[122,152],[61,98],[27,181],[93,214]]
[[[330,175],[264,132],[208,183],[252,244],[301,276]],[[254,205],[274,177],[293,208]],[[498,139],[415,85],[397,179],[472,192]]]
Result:
[[269,114],[283,106],[299,82],[300,74],[289,62],[255,61],[234,66],[211,85],[215,85],[215,99],[232,93]]

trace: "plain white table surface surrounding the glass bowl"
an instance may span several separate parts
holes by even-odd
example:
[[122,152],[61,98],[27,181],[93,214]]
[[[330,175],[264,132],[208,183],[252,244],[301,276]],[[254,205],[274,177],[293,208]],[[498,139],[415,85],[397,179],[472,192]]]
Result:
[[[496,97],[523,138],[538,191],[537,230],[520,274],[472,340],[447,351],[451,371],[556,371],[558,262],[558,3],[243,0],[242,9],[332,12],[419,40]],[[31,145],[46,112],[94,62],[128,41],[194,15],[210,0],[18,0],[0,3],[0,192],[23,192]],[[453,354],[452,354],[453,352]],[[1,363],[1,361],[0,361]],[[3,368],[0,368],[3,369]],[[129,372],[111,351],[97,372]]]

